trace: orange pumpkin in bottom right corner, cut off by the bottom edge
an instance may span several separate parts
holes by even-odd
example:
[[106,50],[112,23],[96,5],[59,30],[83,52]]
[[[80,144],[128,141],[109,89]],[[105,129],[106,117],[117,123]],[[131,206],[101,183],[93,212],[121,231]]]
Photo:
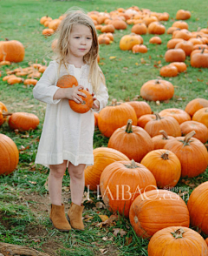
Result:
[[[183,238],[174,238],[172,232],[182,228]],[[205,239],[185,226],[170,226],[156,232],[148,244],[149,256],[207,256]]]

